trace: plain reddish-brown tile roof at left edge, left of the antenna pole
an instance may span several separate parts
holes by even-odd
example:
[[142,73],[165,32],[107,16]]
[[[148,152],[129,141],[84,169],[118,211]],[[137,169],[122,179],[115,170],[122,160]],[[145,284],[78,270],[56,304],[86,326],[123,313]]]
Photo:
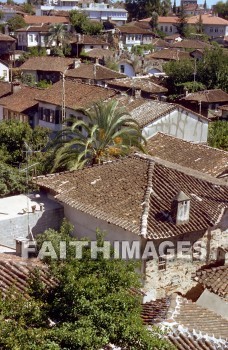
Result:
[[14,112],[22,113],[38,104],[35,99],[43,93],[43,89],[22,86],[21,89],[9,96],[0,99],[0,105]]

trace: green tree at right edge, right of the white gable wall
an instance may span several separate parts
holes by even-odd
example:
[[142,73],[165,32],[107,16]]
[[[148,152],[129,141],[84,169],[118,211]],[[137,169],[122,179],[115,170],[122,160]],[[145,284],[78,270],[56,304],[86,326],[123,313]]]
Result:
[[227,121],[216,121],[209,124],[208,145],[228,151]]

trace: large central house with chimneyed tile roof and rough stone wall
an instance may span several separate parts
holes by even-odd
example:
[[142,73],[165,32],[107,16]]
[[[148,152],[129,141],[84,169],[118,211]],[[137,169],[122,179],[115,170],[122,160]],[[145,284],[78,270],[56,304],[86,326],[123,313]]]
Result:
[[[159,256],[142,261],[144,288],[155,298],[185,294],[196,285],[192,273],[218,262],[218,247],[227,246],[227,185],[174,163],[135,154],[73,173],[40,176],[36,183],[61,202],[77,237],[93,240],[98,227],[106,231],[105,240],[119,241],[120,247],[123,241],[130,247],[140,242],[143,251],[149,242],[157,252],[163,242]],[[174,248],[170,259],[167,241]],[[188,245],[188,258],[176,258],[177,242]],[[203,244],[202,259],[194,250],[196,242]]]

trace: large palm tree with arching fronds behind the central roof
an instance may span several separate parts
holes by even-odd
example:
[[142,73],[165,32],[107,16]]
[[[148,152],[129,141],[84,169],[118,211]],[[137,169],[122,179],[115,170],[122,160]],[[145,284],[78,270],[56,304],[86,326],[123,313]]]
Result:
[[146,140],[138,123],[130,118],[117,101],[99,102],[91,110],[77,109],[88,122],[74,121],[53,142],[56,169],[75,170],[100,164],[128,154],[132,148],[144,152]]

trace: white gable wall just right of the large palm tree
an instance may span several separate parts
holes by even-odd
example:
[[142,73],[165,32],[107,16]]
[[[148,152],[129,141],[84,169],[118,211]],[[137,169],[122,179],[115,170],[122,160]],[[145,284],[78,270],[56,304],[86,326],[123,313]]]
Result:
[[208,121],[193,112],[176,109],[144,127],[143,136],[148,139],[159,131],[186,141],[207,142]]

